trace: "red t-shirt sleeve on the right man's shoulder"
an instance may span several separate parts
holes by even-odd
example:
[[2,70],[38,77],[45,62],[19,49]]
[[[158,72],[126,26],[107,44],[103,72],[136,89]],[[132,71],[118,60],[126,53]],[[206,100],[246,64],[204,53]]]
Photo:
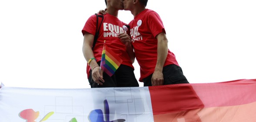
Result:
[[164,26],[163,26],[163,21],[161,20],[160,16],[156,12],[150,12],[148,14],[148,25],[150,28],[151,33],[153,34],[154,37],[156,37],[159,33],[166,33]]

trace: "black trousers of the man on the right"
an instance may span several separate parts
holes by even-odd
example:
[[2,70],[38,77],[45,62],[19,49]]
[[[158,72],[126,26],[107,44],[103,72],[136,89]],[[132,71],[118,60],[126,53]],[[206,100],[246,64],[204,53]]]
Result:
[[[152,86],[151,78],[152,75],[147,76],[143,79],[144,86]],[[163,67],[163,85],[189,83],[186,77],[183,75],[180,66],[170,64]]]

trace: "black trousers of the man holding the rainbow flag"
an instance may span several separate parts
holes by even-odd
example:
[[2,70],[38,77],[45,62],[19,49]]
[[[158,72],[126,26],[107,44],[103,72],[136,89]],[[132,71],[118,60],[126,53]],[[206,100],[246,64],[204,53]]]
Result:
[[[100,62],[98,62],[100,65]],[[120,65],[113,76],[103,72],[103,85],[98,85],[93,81],[92,70],[90,70],[89,83],[91,88],[104,88],[104,87],[139,87],[139,83],[134,75],[134,69],[130,66]]]

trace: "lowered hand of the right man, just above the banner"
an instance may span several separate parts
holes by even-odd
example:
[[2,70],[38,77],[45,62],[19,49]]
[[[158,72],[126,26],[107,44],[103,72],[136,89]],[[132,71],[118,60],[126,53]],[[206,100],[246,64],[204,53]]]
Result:
[[151,83],[152,86],[163,85],[163,73],[155,70],[151,78]]

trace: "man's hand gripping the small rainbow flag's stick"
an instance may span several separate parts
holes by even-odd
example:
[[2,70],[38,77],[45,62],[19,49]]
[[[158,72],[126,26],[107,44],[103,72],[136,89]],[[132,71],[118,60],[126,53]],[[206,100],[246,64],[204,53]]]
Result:
[[92,69],[92,78],[93,81],[98,83],[99,85],[103,85],[104,79],[103,79],[103,70],[100,71],[100,66],[96,66]]

